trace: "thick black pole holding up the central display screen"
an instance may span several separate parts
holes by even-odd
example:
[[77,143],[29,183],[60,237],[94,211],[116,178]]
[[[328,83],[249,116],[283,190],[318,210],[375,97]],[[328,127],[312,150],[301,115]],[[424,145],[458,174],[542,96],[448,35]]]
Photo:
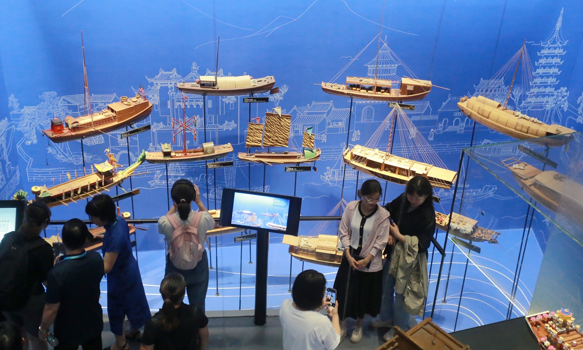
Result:
[[264,325],[267,317],[267,261],[269,232],[257,230],[257,265],[255,267],[255,316],[254,323]]

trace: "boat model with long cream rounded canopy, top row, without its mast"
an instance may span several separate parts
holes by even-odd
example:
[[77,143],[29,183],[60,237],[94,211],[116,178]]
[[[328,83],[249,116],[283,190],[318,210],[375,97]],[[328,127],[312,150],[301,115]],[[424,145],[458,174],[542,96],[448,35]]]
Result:
[[239,76],[200,76],[194,83],[178,83],[178,90],[195,95],[239,96],[268,92],[275,85],[273,76],[253,79],[249,75]]

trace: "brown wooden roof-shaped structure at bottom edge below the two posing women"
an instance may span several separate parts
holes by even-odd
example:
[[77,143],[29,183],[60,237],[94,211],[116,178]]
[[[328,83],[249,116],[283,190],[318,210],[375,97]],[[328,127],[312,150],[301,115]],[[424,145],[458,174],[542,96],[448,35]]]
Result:
[[395,327],[395,337],[381,345],[376,350],[469,350],[469,345],[463,345],[447,334],[427,317],[421,323],[403,332]]

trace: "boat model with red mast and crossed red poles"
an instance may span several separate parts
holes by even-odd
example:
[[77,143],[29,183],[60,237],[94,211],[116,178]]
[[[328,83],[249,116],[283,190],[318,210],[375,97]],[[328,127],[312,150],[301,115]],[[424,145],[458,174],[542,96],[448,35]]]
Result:
[[170,143],[161,144],[161,152],[146,152],[146,162],[148,163],[173,163],[173,162],[194,162],[196,160],[218,159],[233,152],[231,143],[217,145],[213,142],[202,143],[201,148],[187,148],[187,131],[192,132],[196,141],[196,115],[191,118],[186,117],[185,100],[188,97],[182,93],[182,120],[172,118],[172,141],[176,142],[176,136],[182,134],[182,150],[172,150]]

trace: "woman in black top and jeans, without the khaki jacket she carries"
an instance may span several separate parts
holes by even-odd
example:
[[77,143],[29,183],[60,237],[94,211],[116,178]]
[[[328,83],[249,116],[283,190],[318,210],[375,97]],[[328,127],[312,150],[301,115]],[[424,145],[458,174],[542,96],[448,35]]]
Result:
[[[391,225],[391,237],[385,250],[382,273],[382,305],[380,318],[371,322],[375,328],[398,325],[408,330],[409,314],[403,310],[403,295],[395,293],[395,277],[390,275],[392,244],[405,241],[405,236],[415,236],[419,240],[417,254],[427,254],[431,236],[436,229],[435,209],[433,208],[433,187],[427,178],[413,177],[405,187],[405,193],[385,205],[391,213],[394,223]],[[426,267],[427,268],[427,267]],[[391,330],[385,338],[392,338]]]

